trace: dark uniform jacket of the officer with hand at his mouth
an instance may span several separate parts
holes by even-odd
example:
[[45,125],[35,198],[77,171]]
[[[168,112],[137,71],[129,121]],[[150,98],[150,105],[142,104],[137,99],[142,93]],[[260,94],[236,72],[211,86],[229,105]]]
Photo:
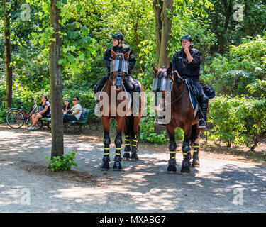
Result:
[[181,77],[193,77],[199,79],[199,70],[201,65],[201,52],[196,48],[191,48],[189,50],[193,57],[192,62],[188,62],[187,55],[184,49],[175,52],[172,57],[172,67],[173,71],[177,70]]

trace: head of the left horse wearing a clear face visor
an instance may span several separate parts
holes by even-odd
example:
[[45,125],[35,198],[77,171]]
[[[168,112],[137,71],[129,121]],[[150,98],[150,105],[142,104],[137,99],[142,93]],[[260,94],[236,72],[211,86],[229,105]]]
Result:
[[117,89],[120,89],[121,85],[123,84],[123,77],[125,74],[128,73],[128,56],[129,52],[118,53],[114,52],[111,49],[111,56],[113,60],[111,60],[111,81],[113,82],[113,86],[116,86]]

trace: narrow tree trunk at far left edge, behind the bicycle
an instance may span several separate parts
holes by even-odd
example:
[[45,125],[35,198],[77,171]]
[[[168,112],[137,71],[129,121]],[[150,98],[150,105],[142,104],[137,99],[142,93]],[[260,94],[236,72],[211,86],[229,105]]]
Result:
[[11,67],[11,42],[10,42],[10,7],[9,0],[3,1],[4,9],[4,55],[6,61],[6,99],[5,108],[12,105],[12,67]]

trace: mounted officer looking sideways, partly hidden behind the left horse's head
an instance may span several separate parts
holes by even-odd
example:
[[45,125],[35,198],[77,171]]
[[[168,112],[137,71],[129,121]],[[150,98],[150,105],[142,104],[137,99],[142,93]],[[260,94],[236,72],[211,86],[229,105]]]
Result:
[[101,89],[103,89],[104,84],[106,84],[107,80],[110,76],[110,63],[112,57],[111,57],[111,49],[116,53],[123,53],[125,54],[130,51],[129,57],[128,57],[128,74],[126,74],[123,78],[123,81],[125,82],[126,89],[128,89],[128,92],[140,92],[140,87],[138,86],[138,83],[135,82],[131,77],[131,71],[133,70],[133,67],[135,65],[135,55],[133,50],[128,46],[123,44],[123,35],[121,33],[115,33],[112,35],[112,41],[113,41],[113,47],[108,48],[106,52],[104,53],[104,65],[107,67],[108,74],[101,78],[98,85],[94,86],[94,93],[100,92]]

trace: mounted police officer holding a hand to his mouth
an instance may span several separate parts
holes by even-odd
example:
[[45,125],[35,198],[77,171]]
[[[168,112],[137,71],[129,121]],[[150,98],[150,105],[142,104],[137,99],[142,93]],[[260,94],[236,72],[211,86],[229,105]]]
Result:
[[181,38],[182,49],[175,52],[172,57],[172,67],[177,76],[186,77],[188,82],[192,82],[199,91],[199,111],[198,128],[206,128],[206,115],[209,98],[203,92],[199,84],[199,70],[201,65],[201,52],[192,46],[192,36],[184,35]]

